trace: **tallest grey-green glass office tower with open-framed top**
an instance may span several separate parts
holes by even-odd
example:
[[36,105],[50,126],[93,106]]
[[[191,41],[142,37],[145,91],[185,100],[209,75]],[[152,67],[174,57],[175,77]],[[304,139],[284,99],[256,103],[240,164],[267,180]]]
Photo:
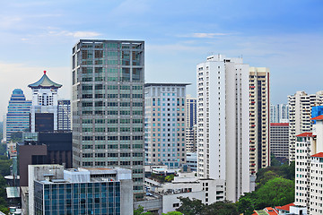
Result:
[[81,39],[72,66],[74,168],[130,168],[143,198],[144,41]]

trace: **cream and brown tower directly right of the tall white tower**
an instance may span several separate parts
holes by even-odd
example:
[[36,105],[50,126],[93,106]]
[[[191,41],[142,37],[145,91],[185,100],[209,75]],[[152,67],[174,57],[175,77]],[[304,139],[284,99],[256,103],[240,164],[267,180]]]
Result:
[[269,69],[249,69],[250,174],[270,165],[269,153]]

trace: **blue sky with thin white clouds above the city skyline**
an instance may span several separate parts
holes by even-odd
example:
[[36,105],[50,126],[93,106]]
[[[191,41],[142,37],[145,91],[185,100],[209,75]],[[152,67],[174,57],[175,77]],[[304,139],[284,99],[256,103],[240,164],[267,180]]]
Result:
[[0,120],[12,91],[48,77],[71,97],[78,39],[145,42],[145,82],[188,82],[206,56],[243,57],[270,69],[270,100],[323,90],[321,0],[0,0]]

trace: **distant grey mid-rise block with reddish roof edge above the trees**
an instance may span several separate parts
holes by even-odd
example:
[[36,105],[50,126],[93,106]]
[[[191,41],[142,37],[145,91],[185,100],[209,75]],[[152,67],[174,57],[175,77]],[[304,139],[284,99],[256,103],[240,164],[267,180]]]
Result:
[[288,129],[288,123],[270,124],[270,154],[273,154],[281,162],[288,159]]

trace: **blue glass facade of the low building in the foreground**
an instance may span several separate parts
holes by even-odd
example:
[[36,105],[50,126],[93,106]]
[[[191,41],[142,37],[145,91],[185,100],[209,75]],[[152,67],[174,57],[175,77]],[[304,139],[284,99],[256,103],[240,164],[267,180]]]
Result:
[[120,215],[120,182],[35,181],[34,208],[36,215]]

